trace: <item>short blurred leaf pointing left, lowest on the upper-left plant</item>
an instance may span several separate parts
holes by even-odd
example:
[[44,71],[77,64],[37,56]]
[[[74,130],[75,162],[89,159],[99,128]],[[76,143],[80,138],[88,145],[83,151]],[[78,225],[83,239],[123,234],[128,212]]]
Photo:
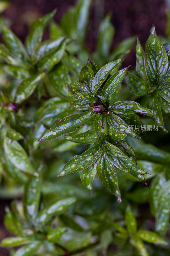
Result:
[[30,76],[28,69],[20,66],[4,66],[3,69],[6,73],[18,79],[24,79]]

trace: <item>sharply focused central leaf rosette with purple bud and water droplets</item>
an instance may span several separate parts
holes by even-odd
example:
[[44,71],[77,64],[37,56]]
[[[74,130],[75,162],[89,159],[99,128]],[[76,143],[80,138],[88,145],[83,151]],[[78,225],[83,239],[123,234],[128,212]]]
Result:
[[[151,110],[134,101],[118,101],[110,105],[110,97],[114,95],[129,68],[121,69],[114,74],[114,69],[120,62],[121,59],[118,59],[101,67],[98,63],[89,60],[87,65],[81,69],[79,81],[68,85],[70,105],[83,112],[64,117],[39,139],[39,141],[51,140],[75,132],[89,122],[93,123],[95,131],[65,136],[67,140],[74,143],[94,143],[94,145],[83,154],[74,156],[68,161],[60,175],[80,171],[82,183],[91,190],[97,172],[103,185],[117,196],[119,202],[121,198],[115,166],[125,172],[130,172],[144,182],[143,174],[146,172],[136,165],[137,162],[130,145],[125,141],[117,140],[124,139],[126,135],[139,138],[136,134],[137,130],[132,131],[130,127],[134,124],[142,125],[137,114],[154,117]],[[109,126],[108,136],[102,133],[106,122]],[[123,132],[121,127],[124,128]]]

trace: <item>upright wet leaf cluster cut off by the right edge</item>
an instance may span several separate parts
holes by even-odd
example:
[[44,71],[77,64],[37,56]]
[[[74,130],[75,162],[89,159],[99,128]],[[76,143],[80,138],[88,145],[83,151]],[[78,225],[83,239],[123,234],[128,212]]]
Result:
[[149,95],[146,107],[152,109],[157,119],[154,122],[165,132],[162,109],[170,111],[170,44],[162,44],[151,28],[145,44],[145,52],[137,40],[136,74],[128,72],[125,80],[130,91],[137,96]]

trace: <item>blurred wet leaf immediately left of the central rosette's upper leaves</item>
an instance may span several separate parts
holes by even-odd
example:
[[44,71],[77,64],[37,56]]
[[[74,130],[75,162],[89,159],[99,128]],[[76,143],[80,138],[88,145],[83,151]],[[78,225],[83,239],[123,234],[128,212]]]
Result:
[[61,97],[67,98],[68,88],[65,83],[69,84],[71,81],[69,73],[62,62],[54,66],[54,68],[48,73],[48,77],[56,92]]

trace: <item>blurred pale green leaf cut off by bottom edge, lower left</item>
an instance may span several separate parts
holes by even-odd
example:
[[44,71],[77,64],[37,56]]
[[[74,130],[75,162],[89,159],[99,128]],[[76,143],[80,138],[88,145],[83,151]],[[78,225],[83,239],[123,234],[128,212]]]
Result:
[[32,256],[39,249],[40,245],[40,241],[34,241],[31,244],[24,245],[16,251],[14,256]]

